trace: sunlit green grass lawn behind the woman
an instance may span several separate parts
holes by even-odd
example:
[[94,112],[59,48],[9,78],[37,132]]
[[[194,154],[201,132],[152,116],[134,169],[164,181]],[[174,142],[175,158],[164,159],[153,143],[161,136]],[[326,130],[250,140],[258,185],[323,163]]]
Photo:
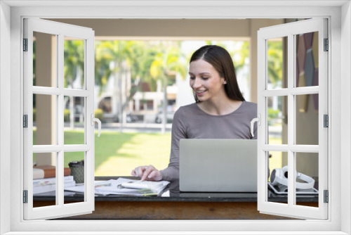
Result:
[[[33,132],[35,140],[36,131]],[[83,144],[84,132],[65,131],[65,144]],[[279,144],[278,139],[270,139],[270,144]],[[139,165],[154,165],[159,170],[168,165],[171,153],[171,134],[95,133],[95,175],[130,175]],[[270,170],[282,167],[282,153],[270,152]],[[83,160],[84,152],[65,152],[65,167],[74,160]],[[35,155],[34,155],[35,161]]]

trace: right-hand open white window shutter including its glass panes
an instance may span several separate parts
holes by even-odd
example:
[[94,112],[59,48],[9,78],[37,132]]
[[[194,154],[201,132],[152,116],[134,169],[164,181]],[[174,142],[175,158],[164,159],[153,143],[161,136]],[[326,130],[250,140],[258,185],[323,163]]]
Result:
[[[283,72],[284,86],[274,88],[270,76],[270,60],[268,43],[274,40],[282,40],[285,48],[284,60],[286,60],[286,72]],[[329,47],[329,48],[328,48]],[[302,20],[294,23],[286,23],[272,27],[265,27],[258,31],[258,210],[271,215],[285,217],[296,217],[303,219],[328,218],[328,44],[327,20],[318,18]],[[284,74],[286,77],[284,77]],[[308,109],[314,112],[317,122],[317,136],[314,141],[317,144],[301,143],[297,136],[297,129],[302,125],[298,119],[306,113],[308,96],[314,99],[314,107]],[[270,142],[270,120],[268,108],[272,99],[281,100],[285,106],[286,113],[283,113],[286,122],[286,142],[274,144]],[[298,119],[298,120],[297,120]],[[314,123],[313,123],[314,124]],[[307,135],[307,130],[305,132]],[[268,172],[269,155],[279,152],[287,159],[289,177],[287,183],[287,198],[282,196],[279,200],[277,195],[271,197],[270,185],[272,178],[269,178],[273,169]],[[312,164],[311,164],[312,161]],[[310,163],[317,169],[317,177],[314,180],[317,184],[317,196],[305,191],[303,197],[311,200],[317,199],[317,205],[310,206],[300,203],[299,195],[303,195],[300,189],[305,182],[296,182],[300,177],[299,163]],[[276,176],[274,174],[274,176]],[[281,184],[282,185],[282,184]],[[269,189],[270,188],[270,189]],[[283,194],[284,195],[284,194]]]

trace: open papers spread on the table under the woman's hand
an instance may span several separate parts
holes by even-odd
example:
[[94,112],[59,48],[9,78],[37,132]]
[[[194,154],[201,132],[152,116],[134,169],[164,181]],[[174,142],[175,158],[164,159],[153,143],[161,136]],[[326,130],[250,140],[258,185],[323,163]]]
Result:
[[[128,186],[128,184],[131,184],[131,182],[138,183],[139,185],[145,184],[145,188],[143,187],[141,187],[143,189],[126,188],[126,186]],[[122,186],[122,184],[124,186]],[[126,196],[158,196],[159,193],[161,193],[161,191],[163,191],[168,184],[169,184],[168,181],[140,182],[140,180],[126,179],[126,178],[119,178],[117,180],[110,179],[104,182],[95,182],[95,194],[100,194],[100,195],[116,194],[116,195],[126,195]],[[65,191],[84,193],[84,185],[65,188]]]

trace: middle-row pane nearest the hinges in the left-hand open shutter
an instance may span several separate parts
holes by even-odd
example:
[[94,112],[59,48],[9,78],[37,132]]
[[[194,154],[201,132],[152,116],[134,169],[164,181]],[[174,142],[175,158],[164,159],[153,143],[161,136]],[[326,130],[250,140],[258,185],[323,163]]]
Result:
[[33,145],[55,145],[57,96],[33,94]]

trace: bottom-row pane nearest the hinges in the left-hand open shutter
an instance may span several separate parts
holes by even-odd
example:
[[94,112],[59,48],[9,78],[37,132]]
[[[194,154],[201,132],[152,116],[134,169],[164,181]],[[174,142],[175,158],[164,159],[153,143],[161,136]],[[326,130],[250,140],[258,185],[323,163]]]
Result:
[[[56,162],[58,153],[33,153],[33,208],[56,203]],[[44,198],[46,200],[44,200]],[[49,200],[47,200],[49,198]]]

